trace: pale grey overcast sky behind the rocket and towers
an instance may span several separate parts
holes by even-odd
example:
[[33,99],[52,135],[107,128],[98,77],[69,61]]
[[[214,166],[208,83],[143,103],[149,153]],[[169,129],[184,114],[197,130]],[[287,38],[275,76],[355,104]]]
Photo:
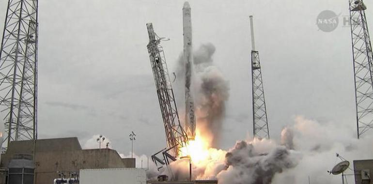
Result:
[[[0,0],[0,35],[8,0]],[[295,115],[351,126],[356,136],[348,0],[189,0],[193,44],[216,46],[214,62],[230,82],[221,148],[252,132],[249,15],[264,80],[269,129]],[[40,0],[39,138],[102,134],[120,153],[152,154],[166,146],[146,45],[152,22],[169,71],[183,49],[184,0]],[[365,1],[373,30],[373,2]],[[335,31],[319,31],[317,15],[340,15]],[[373,33],[371,33],[372,35]],[[177,91],[179,92],[179,91]]]

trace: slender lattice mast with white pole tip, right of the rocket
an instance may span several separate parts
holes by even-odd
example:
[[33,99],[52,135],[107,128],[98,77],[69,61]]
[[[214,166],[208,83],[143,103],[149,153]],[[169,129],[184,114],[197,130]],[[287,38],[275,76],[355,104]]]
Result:
[[253,136],[255,138],[268,138],[269,129],[267,110],[265,108],[262,71],[259,61],[259,52],[255,50],[254,27],[250,16],[251,30],[251,80],[252,80],[252,122]]

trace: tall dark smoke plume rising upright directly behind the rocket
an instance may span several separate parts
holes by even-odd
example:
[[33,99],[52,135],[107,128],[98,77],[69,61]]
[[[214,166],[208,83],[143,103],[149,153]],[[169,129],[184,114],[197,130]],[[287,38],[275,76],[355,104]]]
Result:
[[[205,137],[211,138],[211,146],[218,147],[222,121],[225,115],[225,103],[229,98],[229,84],[221,71],[214,65],[213,55],[215,46],[211,43],[203,44],[193,52],[194,72],[192,87],[196,104],[197,128]],[[182,55],[179,57],[176,71],[176,88],[179,93],[184,92],[185,66]],[[184,96],[178,94],[177,101],[181,120],[184,117],[182,102]]]

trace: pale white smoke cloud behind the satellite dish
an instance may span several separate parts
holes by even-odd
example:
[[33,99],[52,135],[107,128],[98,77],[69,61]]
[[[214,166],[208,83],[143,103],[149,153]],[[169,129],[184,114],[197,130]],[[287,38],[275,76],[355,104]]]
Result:
[[[336,153],[350,161],[350,168],[353,168],[353,160],[373,157],[373,136],[366,134],[357,139],[356,128],[352,125],[320,123],[302,116],[295,117],[295,124],[290,128],[294,131],[294,148],[302,154],[302,159],[294,169],[276,175],[273,184],[308,183],[309,176],[311,184],[341,183],[340,175],[326,172],[341,161]],[[353,174],[353,171],[348,169],[346,174]],[[348,176],[347,181],[354,183],[354,176]]]

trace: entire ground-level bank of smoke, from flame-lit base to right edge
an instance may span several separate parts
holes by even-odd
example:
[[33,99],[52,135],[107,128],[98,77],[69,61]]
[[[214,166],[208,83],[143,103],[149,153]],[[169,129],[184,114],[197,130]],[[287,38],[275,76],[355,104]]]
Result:
[[[192,179],[218,179],[218,184],[331,184],[341,176],[327,170],[345,159],[372,159],[373,135],[357,139],[351,126],[318,122],[302,116],[281,132],[280,142],[267,139],[237,141],[229,151],[209,149],[202,163],[193,164]],[[173,162],[163,174],[188,180],[188,160]],[[175,170],[175,171],[174,171]],[[345,174],[353,174],[348,169]],[[354,176],[347,181],[354,183]]]

